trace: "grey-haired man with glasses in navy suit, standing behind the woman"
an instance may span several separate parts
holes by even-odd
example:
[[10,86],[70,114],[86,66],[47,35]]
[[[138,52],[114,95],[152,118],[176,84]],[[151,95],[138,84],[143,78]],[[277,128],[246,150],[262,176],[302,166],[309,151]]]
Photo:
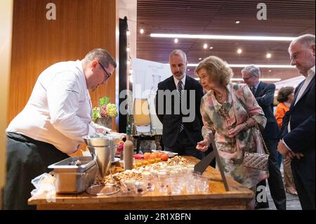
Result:
[[[287,197],[285,195],[282,174],[277,164],[277,140],[279,128],[277,121],[273,115],[273,99],[275,95],[275,84],[266,84],[259,81],[261,76],[260,69],[256,65],[249,65],[242,70],[242,78],[249,86],[252,93],[263,109],[267,124],[263,131],[263,139],[268,147],[269,156],[269,178],[268,183],[270,187],[271,196],[275,207],[277,209],[287,209]],[[266,185],[265,180],[261,181],[258,185]],[[257,185],[257,187],[258,187]],[[258,192],[257,192],[258,193]],[[256,202],[256,209],[268,207],[268,199],[265,202]]]

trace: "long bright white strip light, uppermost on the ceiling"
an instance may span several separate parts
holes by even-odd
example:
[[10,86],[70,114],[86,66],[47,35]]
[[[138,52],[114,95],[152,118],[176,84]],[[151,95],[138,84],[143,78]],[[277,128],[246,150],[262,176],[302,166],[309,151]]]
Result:
[[296,37],[270,36],[230,36],[230,35],[202,35],[202,34],[150,34],[150,37],[185,38],[185,39],[234,39],[250,41],[293,41]]

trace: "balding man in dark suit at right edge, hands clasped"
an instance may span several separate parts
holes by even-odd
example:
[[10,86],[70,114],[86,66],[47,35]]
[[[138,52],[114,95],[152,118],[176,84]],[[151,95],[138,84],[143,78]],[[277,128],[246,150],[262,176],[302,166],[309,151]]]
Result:
[[305,34],[289,46],[291,65],[306,78],[295,89],[282,124],[278,151],[291,158],[302,209],[315,210],[315,35]]

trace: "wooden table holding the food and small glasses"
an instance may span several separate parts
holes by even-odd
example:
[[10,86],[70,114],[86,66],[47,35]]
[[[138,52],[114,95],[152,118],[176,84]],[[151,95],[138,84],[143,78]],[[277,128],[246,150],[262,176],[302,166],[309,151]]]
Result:
[[[186,158],[194,163],[199,162],[194,157]],[[219,171],[211,166],[203,176],[209,178],[209,191],[205,194],[164,195],[154,191],[140,196],[126,196],[122,192],[93,196],[84,192],[79,195],[56,194],[53,202],[46,199],[46,195],[31,197],[28,204],[36,205],[37,209],[247,209],[246,204],[254,198],[251,190],[232,178],[227,178],[230,191],[226,192]]]

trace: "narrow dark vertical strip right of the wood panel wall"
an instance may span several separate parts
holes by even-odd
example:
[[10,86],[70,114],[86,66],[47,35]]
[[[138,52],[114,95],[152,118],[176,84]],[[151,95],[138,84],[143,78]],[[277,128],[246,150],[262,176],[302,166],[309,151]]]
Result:
[[[119,93],[126,90],[126,69],[127,69],[127,18],[119,19]],[[126,98],[119,98],[119,105],[126,100]],[[119,133],[126,132],[126,115],[119,111]]]

